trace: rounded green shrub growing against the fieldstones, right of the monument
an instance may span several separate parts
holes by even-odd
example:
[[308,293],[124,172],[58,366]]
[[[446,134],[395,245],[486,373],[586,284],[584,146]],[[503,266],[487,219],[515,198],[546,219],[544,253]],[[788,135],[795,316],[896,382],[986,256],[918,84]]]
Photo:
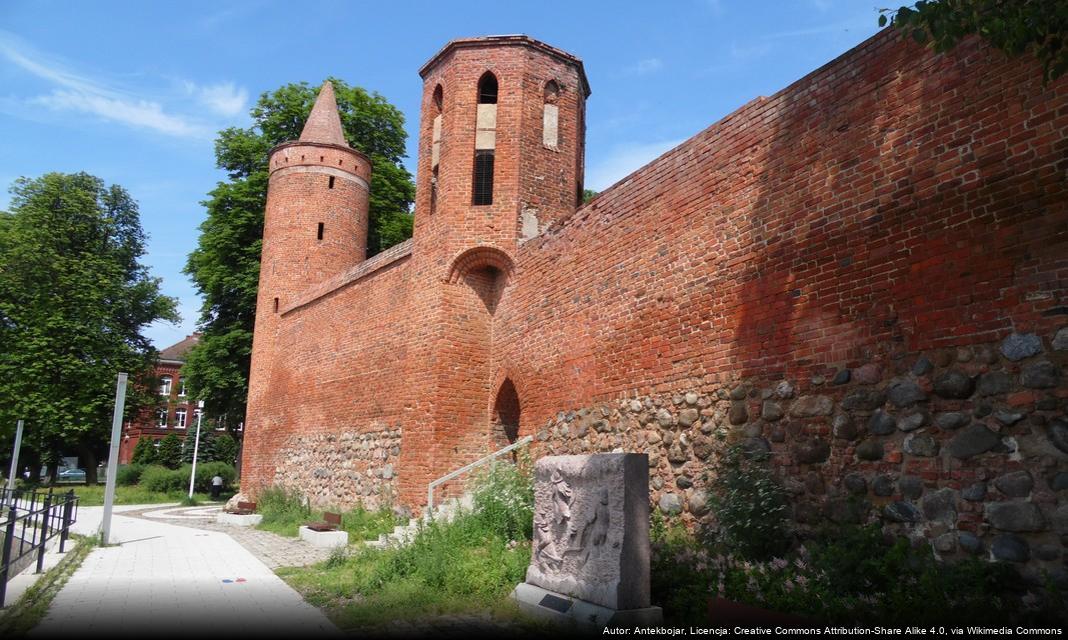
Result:
[[728,447],[713,468],[709,509],[727,549],[752,560],[785,551],[790,543],[786,489],[768,468],[769,455]]

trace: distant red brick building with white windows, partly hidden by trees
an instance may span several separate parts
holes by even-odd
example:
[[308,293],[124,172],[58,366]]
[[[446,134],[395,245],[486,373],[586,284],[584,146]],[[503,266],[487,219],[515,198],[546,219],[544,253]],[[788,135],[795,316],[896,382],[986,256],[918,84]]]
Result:
[[200,409],[197,408],[197,402],[186,393],[182,365],[186,362],[186,354],[199,340],[200,334],[193,333],[159,352],[159,363],[155,372],[159,380],[159,404],[123,425],[119,464],[129,464],[134,448],[141,438],[158,441],[169,434],[177,434],[184,440],[189,428],[197,428]]

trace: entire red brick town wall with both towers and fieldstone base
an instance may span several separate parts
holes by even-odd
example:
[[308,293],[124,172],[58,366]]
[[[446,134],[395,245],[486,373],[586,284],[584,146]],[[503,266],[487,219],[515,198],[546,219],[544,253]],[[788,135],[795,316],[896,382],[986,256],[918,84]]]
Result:
[[1068,81],[888,30],[583,205],[579,59],[459,40],[420,75],[411,240],[365,260],[329,84],[270,154],[244,489],[418,508],[532,435],[646,452],[693,521],[738,441],[802,526],[1058,562]]

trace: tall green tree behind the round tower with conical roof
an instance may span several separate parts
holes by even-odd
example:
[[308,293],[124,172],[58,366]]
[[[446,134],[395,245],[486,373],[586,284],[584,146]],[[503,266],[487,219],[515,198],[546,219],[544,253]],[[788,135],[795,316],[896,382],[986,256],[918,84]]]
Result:
[[[411,237],[409,213],[415,197],[405,157],[404,115],[386,98],[333,80],[337,110],[348,143],[367,154],[371,177],[367,254],[373,255]],[[301,82],[264,93],[251,110],[253,125],[229,128],[216,140],[216,160],[230,179],[203,204],[197,249],[188,274],[204,298],[202,337],[188,355],[184,372],[190,391],[205,402],[211,417],[225,417],[234,427],[245,419],[252,328],[264,207],[267,202],[267,154],[271,147],[300,137],[318,90]]]

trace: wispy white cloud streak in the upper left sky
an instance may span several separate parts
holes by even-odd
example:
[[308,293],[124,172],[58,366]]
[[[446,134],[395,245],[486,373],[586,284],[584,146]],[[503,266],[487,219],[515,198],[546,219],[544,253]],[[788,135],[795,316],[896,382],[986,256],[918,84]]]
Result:
[[[3,30],[0,30],[0,57],[22,71],[58,85],[50,93],[22,98],[21,102],[28,109],[45,107],[52,111],[88,113],[129,127],[179,138],[209,139],[217,128],[201,119],[164,108],[158,100],[72,71],[62,61],[33,50],[23,41]],[[248,92],[235,88],[232,82],[208,87],[197,87],[191,82],[185,84],[187,89],[194,89],[199,103],[221,115],[236,115],[248,100]],[[5,111],[15,111],[10,97],[4,103],[7,105]]]

